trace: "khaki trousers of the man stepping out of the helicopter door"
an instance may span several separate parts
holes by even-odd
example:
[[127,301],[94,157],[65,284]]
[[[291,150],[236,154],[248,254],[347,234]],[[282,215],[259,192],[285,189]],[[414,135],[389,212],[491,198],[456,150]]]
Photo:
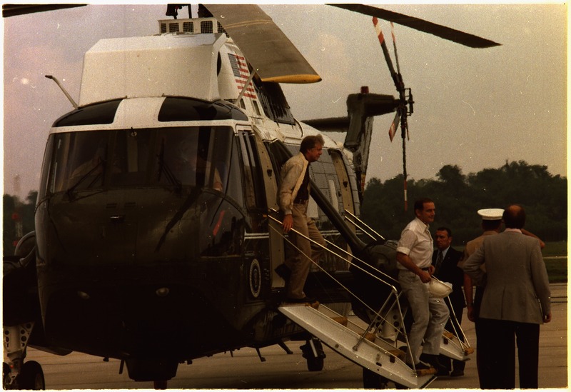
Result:
[[[293,204],[292,228],[302,233],[304,236],[311,238],[313,241],[325,246],[325,239],[323,239],[323,236],[319,232],[317,226],[315,226],[313,218],[308,218],[307,209],[307,202],[304,204]],[[303,238],[297,233],[294,233],[293,230],[288,233],[288,237],[291,243],[293,243],[293,246],[295,246],[293,256],[285,260],[285,265],[291,270],[287,290],[288,297],[304,298],[305,293],[303,292],[303,286],[305,286],[305,280],[308,278],[311,261],[313,260],[317,263],[324,250],[320,246],[311,243],[309,240]]]

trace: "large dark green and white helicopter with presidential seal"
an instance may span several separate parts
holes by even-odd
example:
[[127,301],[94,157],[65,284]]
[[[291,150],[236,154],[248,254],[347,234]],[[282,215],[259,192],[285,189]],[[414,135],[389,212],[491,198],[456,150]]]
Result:
[[[156,36],[98,41],[84,58],[79,101],[66,94],[74,111],[51,127],[36,230],[4,258],[7,389],[44,386],[39,363],[24,361],[27,346],[118,358],[120,371],[158,388],[179,363],[287,339],[306,342],[309,370],[323,368],[325,340],[285,315],[274,270],[292,251],[276,200],[281,166],[327,122],[347,136],[343,146],[325,138],[310,211],[330,246],[350,254],[325,256],[308,293],[366,323],[377,322],[368,308],[390,296],[394,283],[379,286],[375,275],[390,278],[394,244],[363,238],[345,217],[360,213],[373,116],[396,112],[405,133],[413,99],[398,72],[398,98],[363,89],[348,96],[346,119],[304,124],[280,84],[320,76],[258,6],[201,6],[198,18],[158,27]],[[370,306],[345,286],[370,287],[361,293]]]

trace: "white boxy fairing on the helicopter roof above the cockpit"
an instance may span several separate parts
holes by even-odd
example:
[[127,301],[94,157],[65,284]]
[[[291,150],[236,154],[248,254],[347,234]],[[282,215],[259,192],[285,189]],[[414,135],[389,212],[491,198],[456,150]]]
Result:
[[102,39],[86,53],[79,106],[121,98],[219,98],[218,50],[224,34]]

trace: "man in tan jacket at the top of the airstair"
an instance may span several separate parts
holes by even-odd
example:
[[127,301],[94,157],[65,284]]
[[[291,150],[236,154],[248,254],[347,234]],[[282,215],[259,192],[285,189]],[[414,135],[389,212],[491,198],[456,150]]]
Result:
[[319,261],[323,248],[307,238],[323,247],[325,247],[325,239],[315,226],[313,218],[307,216],[310,193],[309,165],[319,159],[323,144],[325,141],[321,135],[305,136],[301,141],[299,154],[288,159],[281,170],[278,200],[281,211],[283,211],[283,232],[288,233],[295,248],[293,256],[276,268],[276,273],[284,278],[287,285],[287,302],[314,301],[313,298],[305,296],[303,286],[305,286],[311,262]]

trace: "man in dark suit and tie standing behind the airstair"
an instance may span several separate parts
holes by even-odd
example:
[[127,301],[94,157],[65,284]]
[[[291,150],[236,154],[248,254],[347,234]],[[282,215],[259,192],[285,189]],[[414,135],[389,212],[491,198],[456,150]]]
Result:
[[[441,281],[452,283],[453,290],[448,299],[445,299],[445,303],[450,311],[450,318],[444,328],[463,340],[462,333],[460,333],[460,323],[462,323],[462,313],[466,307],[462,291],[464,271],[458,267],[458,261],[462,260],[463,253],[450,246],[452,243],[452,231],[448,227],[436,229],[435,242],[437,250],[433,253],[433,266],[435,267],[433,275]],[[464,376],[464,361],[455,359],[452,361],[453,366],[451,366],[450,358],[446,356],[440,355],[438,360],[446,367],[446,371],[439,371],[437,376]],[[450,373],[451,370],[452,373]]]

